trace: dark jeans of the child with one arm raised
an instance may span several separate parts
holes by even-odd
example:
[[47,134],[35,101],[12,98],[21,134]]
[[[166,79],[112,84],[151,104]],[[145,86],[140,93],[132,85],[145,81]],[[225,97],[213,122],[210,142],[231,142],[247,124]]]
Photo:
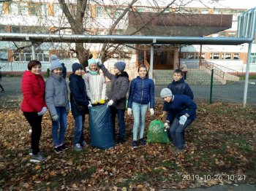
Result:
[[116,135],[115,123],[116,123],[116,114],[117,114],[118,128],[119,128],[118,140],[123,141],[124,133],[125,133],[124,109],[116,109],[116,108],[110,107],[110,111],[111,111],[111,120],[113,124],[113,135],[114,137]]

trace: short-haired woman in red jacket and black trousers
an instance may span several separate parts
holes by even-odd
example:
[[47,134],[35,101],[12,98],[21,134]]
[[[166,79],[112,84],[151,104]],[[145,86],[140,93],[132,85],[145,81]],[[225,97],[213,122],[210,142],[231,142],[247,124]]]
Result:
[[39,150],[39,141],[42,133],[42,115],[47,111],[45,104],[45,81],[42,78],[41,63],[39,61],[29,61],[28,71],[24,71],[21,90],[23,101],[21,111],[26,120],[31,125],[31,149],[30,161],[34,163],[45,162],[46,157]]

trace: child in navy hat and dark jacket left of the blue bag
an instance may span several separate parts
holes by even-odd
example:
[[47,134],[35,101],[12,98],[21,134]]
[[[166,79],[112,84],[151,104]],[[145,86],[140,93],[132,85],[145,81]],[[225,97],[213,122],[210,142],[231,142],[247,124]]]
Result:
[[[89,98],[86,96],[86,84],[82,78],[83,67],[80,63],[72,64],[72,72],[69,76],[70,104],[72,115],[75,119],[75,150],[82,150],[86,146],[86,141],[83,139],[83,128],[86,116],[86,107],[91,106]],[[84,109],[79,109],[83,106]]]

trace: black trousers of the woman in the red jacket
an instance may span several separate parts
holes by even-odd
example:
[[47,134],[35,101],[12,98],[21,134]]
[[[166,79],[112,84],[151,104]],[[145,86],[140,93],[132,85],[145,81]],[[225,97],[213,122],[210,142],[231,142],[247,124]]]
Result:
[[26,120],[32,128],[31,133],[31,149],[34,155],[37,155],[39,150],[39,141],[42,133],[42,115],[38,116],[37,112],[23,112]]

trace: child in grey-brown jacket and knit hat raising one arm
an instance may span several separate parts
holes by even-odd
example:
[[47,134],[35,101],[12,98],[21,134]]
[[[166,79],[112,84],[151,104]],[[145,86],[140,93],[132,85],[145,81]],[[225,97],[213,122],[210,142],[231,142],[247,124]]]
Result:
[[124,142],[125,133],[124,112],[126,107],[127,91],[129,89],[129,76],[127,72],[124,71],[126,63],[122,61],[116,62],[114,64],[115,74],[111,74],[108,69],[105,68],[104,64],[98,62],[97,65],[99,69],[102,69],[105,76],[111,80],[110,101],[108,102],[108,106],[110,106],[111,111],[114,137],[116,134],[115,122],[117,114],[119,128],[117,143],[122,144]]

